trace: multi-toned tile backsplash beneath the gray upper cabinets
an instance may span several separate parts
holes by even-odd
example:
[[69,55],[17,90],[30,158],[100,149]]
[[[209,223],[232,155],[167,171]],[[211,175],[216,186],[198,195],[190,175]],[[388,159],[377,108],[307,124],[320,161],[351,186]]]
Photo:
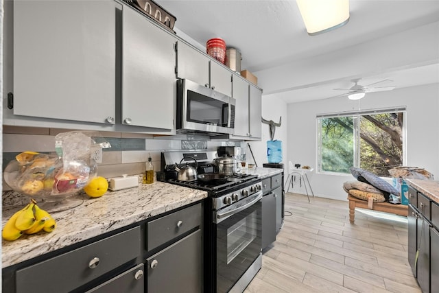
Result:
[[[71,130],[58,128],[30,128],[3,126],[3,169],[16,154],[26,150],[55,152],[55,136]],[[240,146],[240,142],[204,141],[203,137],[154,137],[151,134],[126,132],[99,132],[110,142],[112,148],[102,152],[102,163],[98,164],[99,176],[119,177],[145,172],[145,162],[152,157],[155,171],[161,168],[161,152],[167,150],[216,150],[219,146]],[[201,138],[201,139],[200,139]],[[3,181],[3,191],[10,190]]]

